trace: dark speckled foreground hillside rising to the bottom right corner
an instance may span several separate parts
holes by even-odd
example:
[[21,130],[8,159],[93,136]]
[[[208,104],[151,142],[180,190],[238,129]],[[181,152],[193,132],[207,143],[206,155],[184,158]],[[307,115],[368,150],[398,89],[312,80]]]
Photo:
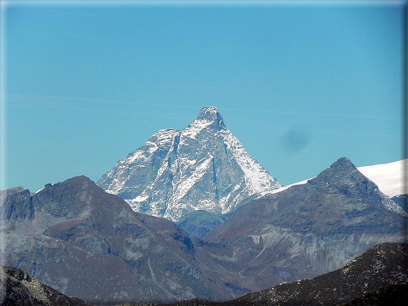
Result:
[[193,299],[168,306],[405,305],[407,289],[408,244],[382,243],[340,269],[312,279],[281,283],[228,302]]

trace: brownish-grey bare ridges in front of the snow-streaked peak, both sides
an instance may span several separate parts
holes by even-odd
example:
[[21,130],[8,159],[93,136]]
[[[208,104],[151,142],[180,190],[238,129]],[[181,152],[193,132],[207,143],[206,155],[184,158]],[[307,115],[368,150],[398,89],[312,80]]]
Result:
[[1,193],[1,264],[87,302],[231,300],[404,241],[406,213],[346,158],[240,206],[203,239],[86,177]]

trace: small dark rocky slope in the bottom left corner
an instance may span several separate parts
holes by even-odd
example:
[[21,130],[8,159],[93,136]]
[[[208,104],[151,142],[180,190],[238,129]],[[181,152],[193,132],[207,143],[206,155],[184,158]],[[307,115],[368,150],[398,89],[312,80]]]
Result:
[[63,295],[9,266],[0,266],[0,305],[2,306],[91,306],[87,302]]

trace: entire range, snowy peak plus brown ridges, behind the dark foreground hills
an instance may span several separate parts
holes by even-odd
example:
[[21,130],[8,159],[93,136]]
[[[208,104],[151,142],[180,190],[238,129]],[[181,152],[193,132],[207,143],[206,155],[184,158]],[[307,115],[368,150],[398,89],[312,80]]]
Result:
[[1,191],[0,264],[88,303],[218,302],[406,238],[408,214],[349,159],[283,186],[215,107],[160,130],[97,184]]

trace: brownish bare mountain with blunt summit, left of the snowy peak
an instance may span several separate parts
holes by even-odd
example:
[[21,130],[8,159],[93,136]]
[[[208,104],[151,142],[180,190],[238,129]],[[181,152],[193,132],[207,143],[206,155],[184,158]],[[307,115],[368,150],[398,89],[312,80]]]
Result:
[[24,214],[2,215],[0,264],[63,294],[91,303],[238,296],[198,268],[192,241],[173,222],[135,213],[86,177],[32,196],[14,191],[4,192],[2,209]]

